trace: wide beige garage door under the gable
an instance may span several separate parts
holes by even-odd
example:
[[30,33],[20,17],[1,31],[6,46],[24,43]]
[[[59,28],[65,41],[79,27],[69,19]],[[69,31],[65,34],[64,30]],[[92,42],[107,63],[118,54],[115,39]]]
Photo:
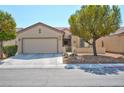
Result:
[[23,53],[57,53],[56,38],[23,39]]

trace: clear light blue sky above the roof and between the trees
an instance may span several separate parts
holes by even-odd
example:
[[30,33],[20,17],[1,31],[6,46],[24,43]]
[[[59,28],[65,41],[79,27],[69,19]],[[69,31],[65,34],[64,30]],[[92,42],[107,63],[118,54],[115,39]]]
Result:
[[[43,22],[54,27],[68,27],[68,18],[80,5],[0,5],[0,10],[7,11],[14,17],[17,27],[27,27],[37,22]],[[124,6],[120,6],[122,26],[124,26]]]

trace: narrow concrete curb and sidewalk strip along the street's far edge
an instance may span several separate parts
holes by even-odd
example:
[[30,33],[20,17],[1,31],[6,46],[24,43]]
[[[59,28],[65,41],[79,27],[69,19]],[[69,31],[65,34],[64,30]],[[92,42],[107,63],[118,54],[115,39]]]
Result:
[[56,65],[1,65],[0,69],[7,68],[124,68],[124,64],[56,64]]

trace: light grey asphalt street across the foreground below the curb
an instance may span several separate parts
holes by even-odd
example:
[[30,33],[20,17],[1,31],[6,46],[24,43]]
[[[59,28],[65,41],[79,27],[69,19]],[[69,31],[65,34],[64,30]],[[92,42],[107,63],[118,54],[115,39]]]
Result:
[[[97,69],[0,69],[1,87],[124,86],[124,72],[94,73]],[[101,71],[101,70],[100,70]],[[116,71],[116,72],[115,72]]]

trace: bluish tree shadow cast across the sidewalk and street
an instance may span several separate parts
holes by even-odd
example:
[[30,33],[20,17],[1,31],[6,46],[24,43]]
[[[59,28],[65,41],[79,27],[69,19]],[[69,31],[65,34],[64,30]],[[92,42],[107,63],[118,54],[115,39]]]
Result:
[[91,74],[96,74],[96,75],[118,75],[119,72],[124,72],[124,66],[120,67],[74,67],[74,66],[69,66],[66,65],[65,69],[80,69],[83,70],[84,72],[88,72]]

